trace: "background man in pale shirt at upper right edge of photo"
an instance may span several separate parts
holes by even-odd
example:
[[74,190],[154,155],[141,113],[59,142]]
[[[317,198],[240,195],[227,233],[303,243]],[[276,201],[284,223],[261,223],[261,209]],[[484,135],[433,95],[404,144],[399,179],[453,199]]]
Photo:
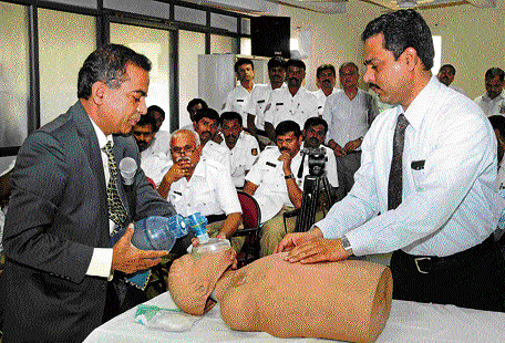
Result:
[[484,76],[486,94],[475,98],[486,116],[503,115],[505,116],[505,92],[503,84],[505,72],[501,67],[491,67]]

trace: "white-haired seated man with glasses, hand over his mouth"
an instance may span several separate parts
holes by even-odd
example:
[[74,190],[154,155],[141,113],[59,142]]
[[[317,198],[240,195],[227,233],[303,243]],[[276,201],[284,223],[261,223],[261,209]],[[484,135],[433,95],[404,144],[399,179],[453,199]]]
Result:
[[[207,217],[210,237],[230,238],[241,224],[237,191],[227,167],[204,156],[202,148],[193,131],[179,129],[172,135],[172,160],[166,159],[164,168],[169,169],[159,183],[158,193],[183,217],[194,212]],[[243,241],[234,239],[231,243],[239,250]]]

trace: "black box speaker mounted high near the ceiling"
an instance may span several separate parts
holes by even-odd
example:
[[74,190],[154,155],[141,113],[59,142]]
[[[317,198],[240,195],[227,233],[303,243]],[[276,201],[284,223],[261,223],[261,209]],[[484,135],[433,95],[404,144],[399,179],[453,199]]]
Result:
[[289,59],[291,19],[289,17],[252,17],[250,19],[251,53],[255,56]]

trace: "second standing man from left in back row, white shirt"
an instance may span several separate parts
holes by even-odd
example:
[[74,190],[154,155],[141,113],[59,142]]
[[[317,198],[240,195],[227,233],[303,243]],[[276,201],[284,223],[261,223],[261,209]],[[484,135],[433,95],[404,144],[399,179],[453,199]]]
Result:
[[[249,108],[247,110],[247,127],[252,136],[255,136],[258,142],[265,142],[262,137],[266,137],[267,134],[265,131],[265,111],[267,105],[270,103],[271,93],[274,90],[286,87],[286,69],[285,60],[282,58],[276,56],[268,61],[268,79],[270,83],[267,84],[257,84],[254,92],[250,94]],[[258,133],[258,129],[261,132]],[[262,137],[258,137],[258,135]]]

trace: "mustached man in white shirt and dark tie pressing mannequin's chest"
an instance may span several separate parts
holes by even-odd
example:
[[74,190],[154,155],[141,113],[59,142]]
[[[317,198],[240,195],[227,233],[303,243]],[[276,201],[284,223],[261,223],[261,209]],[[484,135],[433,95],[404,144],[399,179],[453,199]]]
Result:
[[493,189],[489,122],[432,76],[432,35],[414,10],[381,15],[361,39],[364,81],[398,106],[365,135],[349,195],[277,251],[302,263],[394,251],[395,299],[504,311],[505,266],[491,233],[505,202]]

